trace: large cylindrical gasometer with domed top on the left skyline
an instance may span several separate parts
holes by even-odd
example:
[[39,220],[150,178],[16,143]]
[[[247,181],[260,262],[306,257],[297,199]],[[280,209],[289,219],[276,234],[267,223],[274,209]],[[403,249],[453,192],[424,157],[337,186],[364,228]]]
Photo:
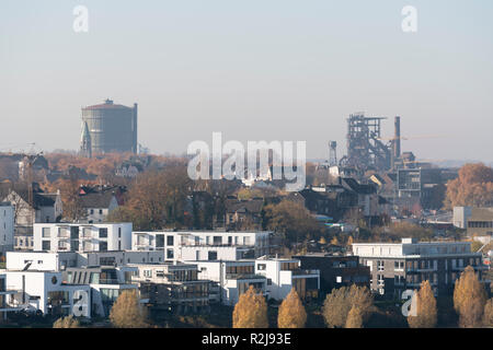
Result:
[[91,158],[113,152],[137,153],[137,104],[104,104],[82,108],[80,153]]

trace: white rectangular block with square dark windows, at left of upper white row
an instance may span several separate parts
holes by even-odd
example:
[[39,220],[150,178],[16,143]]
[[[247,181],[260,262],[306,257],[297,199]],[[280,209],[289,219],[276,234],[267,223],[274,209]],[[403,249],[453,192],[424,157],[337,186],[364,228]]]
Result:
[[131,248],[131,223],[35,223],[35,252],[113,252]]

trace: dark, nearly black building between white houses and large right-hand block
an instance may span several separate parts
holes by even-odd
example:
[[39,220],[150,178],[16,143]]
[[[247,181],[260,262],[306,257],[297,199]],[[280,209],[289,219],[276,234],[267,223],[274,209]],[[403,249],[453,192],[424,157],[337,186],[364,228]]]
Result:
[[334,288],[352,284],[370,287],[370,269],[368,266],[362,266],[357,256],[312,253],[297,255],[293,258],[300,260],[301,269],[320,270],[320,292],[322,296],[331,293]]

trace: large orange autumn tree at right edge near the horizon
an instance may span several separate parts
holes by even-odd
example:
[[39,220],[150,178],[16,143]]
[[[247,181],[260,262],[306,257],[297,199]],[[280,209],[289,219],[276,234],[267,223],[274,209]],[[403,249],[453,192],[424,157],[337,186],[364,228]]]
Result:
[[483,163],[463,165],[459,176],[447,183],[445,206],[493,206],[493,168]]

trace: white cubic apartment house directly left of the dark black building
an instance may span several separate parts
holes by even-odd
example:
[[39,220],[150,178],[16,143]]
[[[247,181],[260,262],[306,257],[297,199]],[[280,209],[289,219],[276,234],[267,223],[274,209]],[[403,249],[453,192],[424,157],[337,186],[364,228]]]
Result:
[[262,257],[255,260],[255,275],[267,279],[271,299],[282,301],[294,288],[301,299],[318,298],[320,271],[300,269],[300,260]]

